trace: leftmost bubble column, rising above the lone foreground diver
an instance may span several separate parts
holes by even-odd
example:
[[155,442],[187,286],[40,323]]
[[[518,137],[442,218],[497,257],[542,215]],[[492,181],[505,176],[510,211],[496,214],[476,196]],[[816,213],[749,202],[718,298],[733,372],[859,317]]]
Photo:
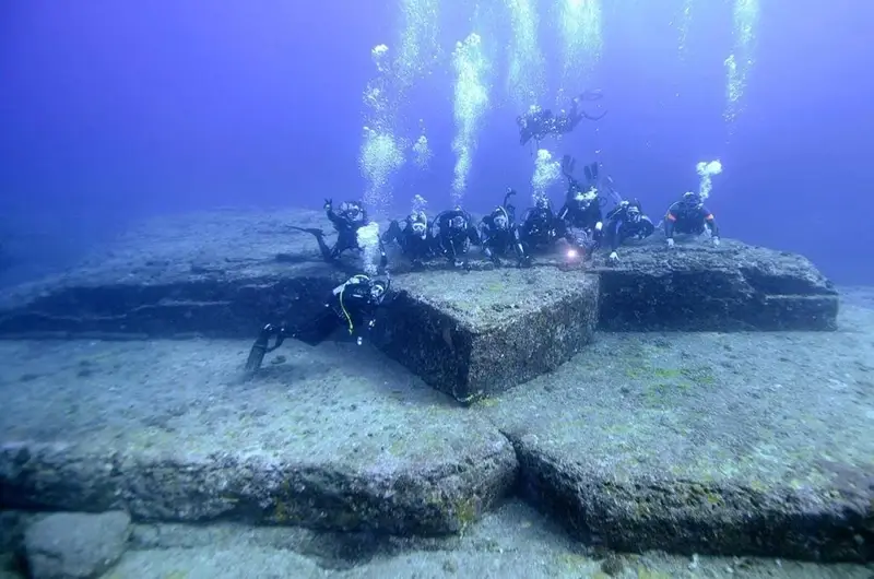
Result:
[[365,204],[377,210],[391,203],[391,177],[403,165],[402,146],[394,135],[394,102],[390,95],[391,67],[388,64],[388,47],[376,46],[371,50],[377,75],[364,91],[365,118],[364,142],[358,157],[362,175],[367,181]]

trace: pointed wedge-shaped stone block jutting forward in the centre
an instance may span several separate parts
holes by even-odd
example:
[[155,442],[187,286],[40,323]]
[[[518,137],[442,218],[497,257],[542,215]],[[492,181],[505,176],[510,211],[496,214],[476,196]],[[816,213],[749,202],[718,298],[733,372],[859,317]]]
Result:
[[598,277],[579,271],[430,271],[394,286],[380,347],[465,402],[556,369],[597,324]]

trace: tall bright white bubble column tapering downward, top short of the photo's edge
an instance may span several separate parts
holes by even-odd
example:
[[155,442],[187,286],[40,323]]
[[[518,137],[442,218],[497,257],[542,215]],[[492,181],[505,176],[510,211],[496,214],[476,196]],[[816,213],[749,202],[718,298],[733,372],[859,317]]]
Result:
[[488,86],[485,81],[488,62],[481,48],[480,35],[473,33],[456,45],[452,68],[456,73],[454,118],[456,172],[452,180],[452,203],[460,204],[468,186],[473,152],[483,116],[488,108]]

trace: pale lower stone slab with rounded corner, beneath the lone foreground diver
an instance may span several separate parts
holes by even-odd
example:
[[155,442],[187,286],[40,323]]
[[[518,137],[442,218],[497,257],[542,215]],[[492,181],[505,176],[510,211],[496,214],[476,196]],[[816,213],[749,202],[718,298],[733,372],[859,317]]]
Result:
[[[4,508],[450,533],[504,496],[509,441],[373,350],[0,343]],[[280,357],[281,356],[281,357]]]

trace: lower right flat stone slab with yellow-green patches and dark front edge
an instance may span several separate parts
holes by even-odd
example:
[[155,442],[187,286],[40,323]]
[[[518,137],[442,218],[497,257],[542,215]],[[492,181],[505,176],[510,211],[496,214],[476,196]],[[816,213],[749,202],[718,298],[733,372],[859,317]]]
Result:
[[874,557],[874,311],[836,333],[601,334],[477,404],[522,492],[621,551]]

